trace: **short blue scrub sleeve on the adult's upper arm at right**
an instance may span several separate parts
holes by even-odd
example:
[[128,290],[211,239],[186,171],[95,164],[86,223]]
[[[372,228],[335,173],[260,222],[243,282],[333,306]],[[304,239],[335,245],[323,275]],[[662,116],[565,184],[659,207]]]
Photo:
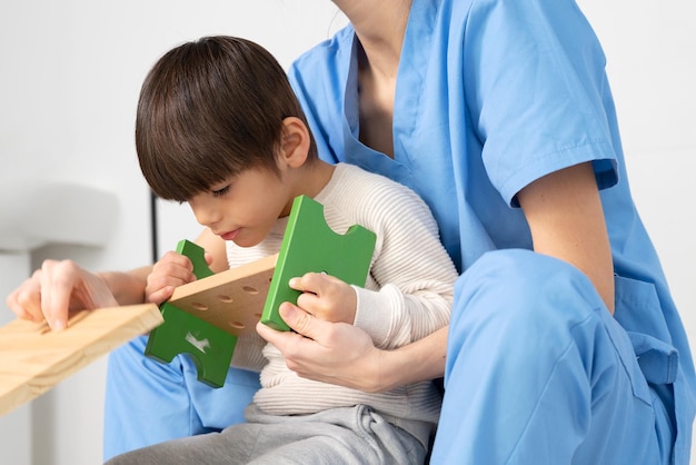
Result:
[[599,188],[616,184],[605,56],[577,4],[474,1],[466,21],[467,101],[508,205],[535,179],[588,160]]

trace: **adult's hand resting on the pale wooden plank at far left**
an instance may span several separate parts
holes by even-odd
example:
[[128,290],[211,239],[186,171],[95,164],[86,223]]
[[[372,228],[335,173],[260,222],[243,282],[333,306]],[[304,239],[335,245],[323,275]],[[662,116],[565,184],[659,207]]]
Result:
[[44,260],[8,296],[7,305],[19,318],[46,319],[52,329],[60,330],[70,310],[115,307],[118,303],[100,276],[71,260]]

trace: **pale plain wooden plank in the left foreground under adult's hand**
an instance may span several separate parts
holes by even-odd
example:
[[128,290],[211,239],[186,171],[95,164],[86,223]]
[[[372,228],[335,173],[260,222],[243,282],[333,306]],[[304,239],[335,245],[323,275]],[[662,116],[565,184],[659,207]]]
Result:
[[73,313],[68,327],[17,319],[0,328],[0,415],[162,323],[155,304]]

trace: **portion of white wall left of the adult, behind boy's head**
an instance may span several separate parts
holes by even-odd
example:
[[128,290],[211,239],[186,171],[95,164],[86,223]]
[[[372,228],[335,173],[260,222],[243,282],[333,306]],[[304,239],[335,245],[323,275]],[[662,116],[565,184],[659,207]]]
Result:
[[[150,260],[149,194],[132,128],[142,79],[161,53],[200,36],[228,33],[258,41],[287,66],[339,23],[326,0],[0,3],[0,182],[74,181],[119,199],[118,226],[103,248],[44,247],[33,253],[34,266],[43,257],[70,257],[90,269]],[[163,214],[170,209],[178,207]],[[161,231],[167,248],[198,230],[188,215],[163,225],[171,228]],[[29,269],[21,257],[0,260],[2,303]],[[2,305],[0,324],[10,318]],[[2,463],[101,463],[105,373],[102,358],[0,418]]]

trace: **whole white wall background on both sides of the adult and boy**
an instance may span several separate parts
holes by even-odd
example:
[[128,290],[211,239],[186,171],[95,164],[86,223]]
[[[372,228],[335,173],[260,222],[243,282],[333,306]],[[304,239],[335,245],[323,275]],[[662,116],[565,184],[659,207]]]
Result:
[[[696,246],[687,191],[696,170],[696,30],[688,23],[696,7],[689,0],[580,6],[608,57],[636,201],[696,340]],[[106,247],[48,247],[33,254],[34,263],[71,257],[91,269],[122,269],[149,260],[148,190],[132,126],[142,78],[161,53],[199,36],[228,33],[260,42],[287,66],[342,23],[337,14],[328,0],[3,2],[0,182],[74,180],[106,188],[120,202]],[[166,205],[160,214],[162,248],[198,231],[187,207]],[[26,273],[0,268],[0,291]],[[9,319],[3,311],[0,323]],[[99,360],[0,418],[3,463],[100,463],[105,370],[106,360]]]

